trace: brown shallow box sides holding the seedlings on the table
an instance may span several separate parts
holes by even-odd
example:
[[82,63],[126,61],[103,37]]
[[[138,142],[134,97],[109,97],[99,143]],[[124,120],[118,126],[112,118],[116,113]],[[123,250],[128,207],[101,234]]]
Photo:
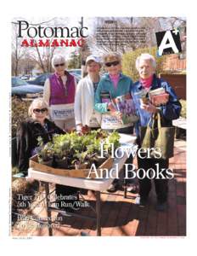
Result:
[[[47,172],[47,173],[66,176],[66,177],[88,177],[88,174],[90,172],[90,169],[65,170],[65,169],[53,168],[51,166],[45,166],[38,162],[37,155],[34,155],[31,157],[29,166],[39,172]],[[113,166],[112,158],[105,160],[104,163],[97,168],[98,176],[101,172],[100,169],[106,168],[106,169],[110,170],[110,168],[112,166]],[[90,177],[95,178],[96,177],[95,173],[91,173]]]

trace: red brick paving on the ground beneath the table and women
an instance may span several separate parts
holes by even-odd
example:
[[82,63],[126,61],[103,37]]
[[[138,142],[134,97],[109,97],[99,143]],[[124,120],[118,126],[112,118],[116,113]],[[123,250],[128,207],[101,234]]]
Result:
[[[136,162],[134,162],[136,164]],[[153,185],[149,195],[149,204],[138,207],[134,204],[137,194],[127,192],[123,197],[123,190],[114,194],[104,191],[101,194],[102,236],[186,236],[186,142],[176,140],[175,155],[170,160],[170,168],[175,177],[169,180],[168,209],[166,212],[155,211],[155,188]],[[93,194],[83,195],[95,206]],[[93,215],[87,207],[83,214]],[[35,207],[29,214],[37,217],[46,217],[44,201],[42,207]],[[53,218],[57,213],[53,212]],[[21,224],[24,224],[22,226]],[[66,217],[64,224],[53,227],[53,236],[96,236],[96,225],[93,220],[84,218]],[[48,228],[41,228],[33,220],[18,221],[12,230],[13,236],[48,236]]]

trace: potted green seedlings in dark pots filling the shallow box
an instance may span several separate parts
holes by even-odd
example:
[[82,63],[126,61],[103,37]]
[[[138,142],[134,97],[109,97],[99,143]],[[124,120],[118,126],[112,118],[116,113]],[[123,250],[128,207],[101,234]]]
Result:
[[[63,169],[86,169],[92,164],[101,166],[110,157],[111,143],[114,149],[120,146],[120,136],[114,131],[89,131],[79,135],[76,131],[53,136],[53,142],[43,144],[39,139],[38,159],[45,165]],[[101,158],[101,145],[104,143],[104,158]]]

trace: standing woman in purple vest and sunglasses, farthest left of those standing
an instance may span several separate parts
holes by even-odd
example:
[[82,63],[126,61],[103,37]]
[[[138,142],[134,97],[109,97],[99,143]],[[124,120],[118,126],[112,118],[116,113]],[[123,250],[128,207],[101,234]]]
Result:
[[54,123],[63,130],[70,130],[75,127],[76,81],[65,70],[65,56],[54,55],[52,66],[55,72],[44,84],[43,98],[50,106],[50,117]]

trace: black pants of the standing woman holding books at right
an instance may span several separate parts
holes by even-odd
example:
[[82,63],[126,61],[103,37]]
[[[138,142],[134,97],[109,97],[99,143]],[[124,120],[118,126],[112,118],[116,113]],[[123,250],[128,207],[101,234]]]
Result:
[[[149,168],[153,168],[156,171],[156,164],[159,164],[159,170],[161,168],[167,169],[169,166],[169,160],[163,159],[141,159],[138,157],[138,169],[142,168],[143,170],[138,171],[139,177],[144,177],[144,173],[147,174],[147,170]],[[166,170],[162,172],[163,176],[166,177]],[[154,178],[155,182],[155,191],[157,195],[157,201],[159,203],[164,203],[167,201],[167,194],[168,194],[168,179],[162,179],[161,176],[159,179]],[[149,196],[149,191],[151,190],[151,179],[149,177],[144,177],[143,179],[138,178],[139,183],[139,195],[140,197],[144,198],[145,200]]]

